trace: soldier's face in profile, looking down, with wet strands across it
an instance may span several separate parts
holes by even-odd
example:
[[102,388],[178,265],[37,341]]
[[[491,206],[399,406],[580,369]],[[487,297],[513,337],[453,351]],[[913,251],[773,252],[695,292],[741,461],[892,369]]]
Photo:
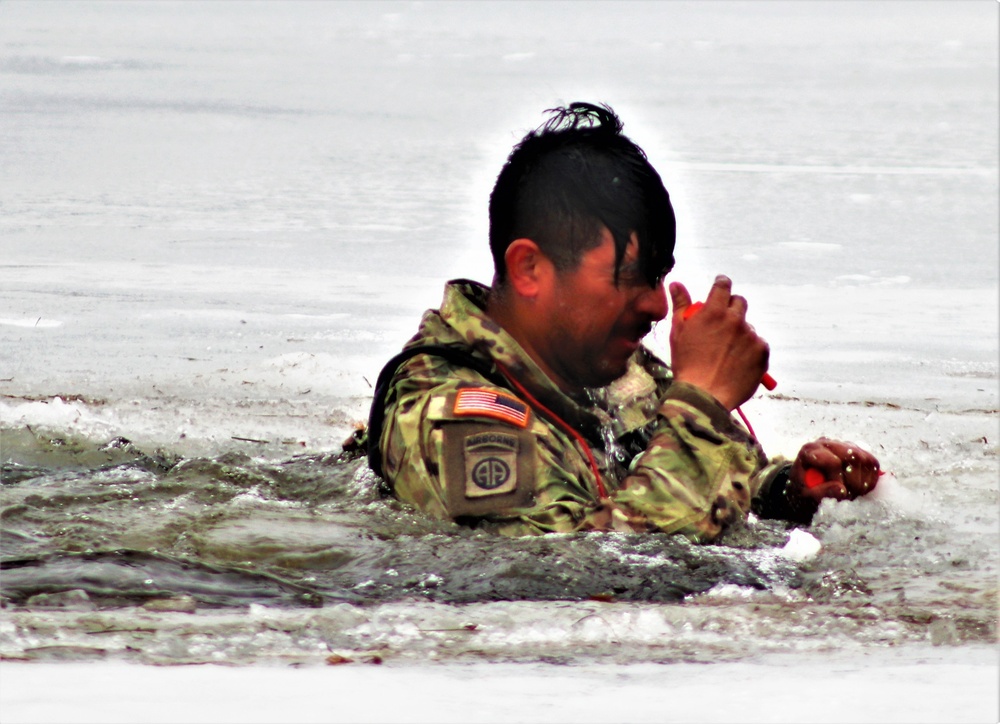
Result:
[[603,387],[621,377],[640,340],[667,315],[662,280],[649,285],[638,250],[633,235],[615,284],[615,243],[604,229],[600,245],[575,269],[556,272],[540,298],[547,333],[538,351],[561,387]]

